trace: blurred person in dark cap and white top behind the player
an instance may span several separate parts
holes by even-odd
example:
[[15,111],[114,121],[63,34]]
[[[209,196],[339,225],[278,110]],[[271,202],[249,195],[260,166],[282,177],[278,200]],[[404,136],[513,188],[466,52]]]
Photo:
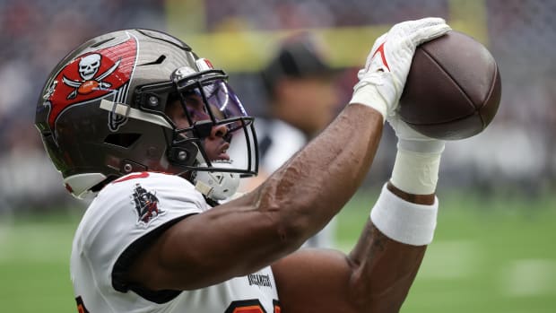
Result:
[[[282,41],[262,70],[266,106],[256,119],[259,174],[246,179],[248,190],[258,186],[317,136],[336,116],[341,96],[337,72],[326,64],[324,48],[306,33]],[[304,247],[334,248],[334,220]]]

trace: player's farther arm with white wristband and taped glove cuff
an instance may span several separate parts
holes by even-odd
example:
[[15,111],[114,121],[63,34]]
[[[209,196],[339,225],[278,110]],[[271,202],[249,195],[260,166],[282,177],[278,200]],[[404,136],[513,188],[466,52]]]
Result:
[[436,226],[434,193],[444,142],[413,132],[395,112],[387,119],[398,137],[395,166],[357,245],[349,256],[305,250],[274,264],[284,311],[401,308]]

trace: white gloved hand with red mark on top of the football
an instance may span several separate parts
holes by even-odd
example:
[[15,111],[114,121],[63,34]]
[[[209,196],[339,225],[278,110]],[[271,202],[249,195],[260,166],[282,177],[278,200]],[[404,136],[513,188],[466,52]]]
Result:
[[361,103],[384,117],[397,107],[412,64],[415,48],[445,34],[450,27],[443,19],[425,18],[401,22],[380,36],[370,50],[350,103]]

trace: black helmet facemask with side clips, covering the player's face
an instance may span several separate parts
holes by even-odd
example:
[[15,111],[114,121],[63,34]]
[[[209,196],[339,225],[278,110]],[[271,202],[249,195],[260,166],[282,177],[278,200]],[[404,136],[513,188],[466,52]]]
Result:
[[175,174],[256,175],[253,117],[248,117],[226,79],[221,70],[195,72],[184,66],[174,71],[171,82],[143,85],[135,91],[141,109],[162,115],[173,126],[167,157],[181,170]]

